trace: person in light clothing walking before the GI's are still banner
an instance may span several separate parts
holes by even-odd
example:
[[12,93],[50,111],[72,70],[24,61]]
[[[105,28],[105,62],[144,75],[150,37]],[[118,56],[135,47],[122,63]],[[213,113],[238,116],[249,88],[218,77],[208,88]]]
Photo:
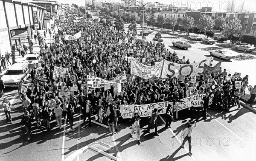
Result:
[[136,131],[137,135],[137,142],[140,145],[140,111],[138,107],[134,110],[132,113],[132,125],[131,125],[131,133],[130,138],[134,135],[134,132]]

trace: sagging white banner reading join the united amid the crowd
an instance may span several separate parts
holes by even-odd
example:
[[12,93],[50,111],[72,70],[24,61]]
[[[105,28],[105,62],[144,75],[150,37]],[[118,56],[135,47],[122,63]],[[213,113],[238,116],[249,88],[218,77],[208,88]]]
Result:
[[125,82],[127,82],[125,71],[118,74],[113,80],[110,80],[110,81],[101,79],[96,76],[87,75],[87,87],[90,87],[90,88],[102,88],[102,87],[105,87],[105,85],[107,84],[113,85],[115,83],[125,83]]

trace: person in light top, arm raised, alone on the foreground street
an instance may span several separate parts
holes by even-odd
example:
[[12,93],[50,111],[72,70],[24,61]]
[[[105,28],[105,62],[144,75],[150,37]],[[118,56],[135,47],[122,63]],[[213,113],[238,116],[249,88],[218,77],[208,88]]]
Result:
[[184,149],[184,144],[186,141],[189,141],[189,155],[192,155],[191,153],[191,134],[192,134],[192,129],[196,127],[196,121],[195,121],[195,126],[192,126],[192,124],[188,124],[187,128],[183,130],[183,132],[180,135],[180,138],[184,138],[181,147]]

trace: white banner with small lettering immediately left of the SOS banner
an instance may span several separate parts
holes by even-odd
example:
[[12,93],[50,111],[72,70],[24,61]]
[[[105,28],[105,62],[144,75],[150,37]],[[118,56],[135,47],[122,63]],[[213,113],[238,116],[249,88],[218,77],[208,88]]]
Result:
[[131,57],[131,74],[136,76],[140,76],[145,79],[152,78],[153,76],[159,76],[162,68],[163,61],[153,66],[147,66],[136,60],[134,57]]

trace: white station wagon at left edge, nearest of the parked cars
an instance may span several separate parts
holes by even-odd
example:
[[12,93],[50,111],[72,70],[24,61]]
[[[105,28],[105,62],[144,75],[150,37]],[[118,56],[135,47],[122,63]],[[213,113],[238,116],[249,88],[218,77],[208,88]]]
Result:
[[29,77],[30,70],[28,69],[28,62],[14,63],[2,76],[2,80],[6,87],[17,87],[23,78],[24,82]]

